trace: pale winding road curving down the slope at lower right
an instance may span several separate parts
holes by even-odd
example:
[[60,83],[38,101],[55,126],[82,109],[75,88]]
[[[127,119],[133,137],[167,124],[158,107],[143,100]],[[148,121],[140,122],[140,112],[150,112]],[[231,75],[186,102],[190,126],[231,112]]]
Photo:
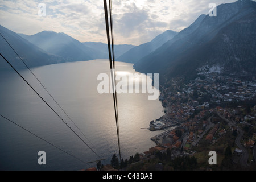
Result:
[[[236,145],[243,151],[243,155],[242,157],[240,158],[240,164],[243,166],[243,167],[249,167],[249,164],[247,163],[247,160],[249,158],[249,154],[248,154],[248,151],[246,150],[246,148],[244,146],[242,146],[241,144],[241,139],[242,139],[242,136],[243,134],[245,133],[243,130],[240,129],[240,127],[237,127],[236,125],[234,125],[232,122],[230,122],[228,119],[224,118],[222,115],[220,115],[218,113],[218,116],[222,119],[224,119],[226,122],[229,123],[230,126],[234,126],[236,127],[237,131],[238,131],[238,135],[237,135],[237,138],[235,140],[235,143]],[[255,148],[254,148],[255,149]],[[255,155],[254,155],[255,157]]]

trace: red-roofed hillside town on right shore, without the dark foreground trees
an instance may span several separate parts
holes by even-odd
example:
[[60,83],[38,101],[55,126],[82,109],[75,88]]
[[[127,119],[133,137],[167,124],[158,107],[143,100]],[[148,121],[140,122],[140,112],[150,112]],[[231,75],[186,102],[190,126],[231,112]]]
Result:
[[[183,84],[183,79],[172,78],[162,87],[159,100],[166,114],[150,122],[150,129],[164,131],[151,138],[156,146],[145,151],[144,158],[156,152],[166,154],[168,148],[172,159],[178,156],[197,158],[202,150],[220,150],[221,145],[223,154],[228,144],[232,146],[233,163],[243,167],[254,164],[255,77],[242,81],[234,76],[210,73],[201,74],[186,84]],[[168,130],[171,126],[176,127]],[[230,141],[224,144],[224,140]]]

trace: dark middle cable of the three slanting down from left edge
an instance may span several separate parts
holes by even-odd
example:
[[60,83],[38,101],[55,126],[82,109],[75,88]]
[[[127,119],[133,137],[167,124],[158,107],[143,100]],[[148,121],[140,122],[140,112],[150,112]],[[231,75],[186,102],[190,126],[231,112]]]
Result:
[[13,68],[14,69],[14,71],[16,72],[16,73],[18,73],[18,75],[27,83],[27,85],[28,86],[30,86],[30,88],[32,89],[32,90],[34,90],[34,92],[44,101],[44,103],[46,103],[46,105],[61,119],[61,121],[63,121],[64,123],[65,123],[65,125],[67,125],[68,127],[69,127],[69,129],[71,129],[72,131],[73,131],[73,133],[75,133],[76,135],[77,135],[77,137],[79,137],[81,140],[82,140],[82,142],[84,142],[84,144],[86,144],[86,146],[88,146],[89,148],[90,148],[90,150],[92,150],[93,151],[93,153],[94,154],[96,154],[97,156],[98,156],[98,158],[100,158],[101,159],[101,157],[63,120],[63,118],[61,118],[60,117],[60,115],[59,114],[57,114],[56,113],[56,111],[55,110],[53,110],[52,109],[52,107],[43,99],[43,97],[41,97],[40,96],[40,94],[38,93],[38,92],[36,92],[36,90],[34,89],[34,88],[32,88],[32,86],[25,80],[25,78],[23,78],[22,77],[22,75],[20,75],[20,73],[13,67],[13,65],[11,65],[10,63],[9,63],[9,61],[7,61],[7,59],[5,59],[5,57],[0,53],[0,56],[2,56],[3,57],[3,59],[11,66],[11,68]]

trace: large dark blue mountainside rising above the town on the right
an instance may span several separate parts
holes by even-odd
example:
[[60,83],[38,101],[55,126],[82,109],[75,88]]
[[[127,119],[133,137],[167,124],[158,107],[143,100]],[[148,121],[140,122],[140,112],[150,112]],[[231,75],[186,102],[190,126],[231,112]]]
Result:
[[217,16],[201,15],[173,39],[139,60],[134,68],[165,78],[196,77],[200,67],[255,76],[256,2],[239,0],[217,6]]

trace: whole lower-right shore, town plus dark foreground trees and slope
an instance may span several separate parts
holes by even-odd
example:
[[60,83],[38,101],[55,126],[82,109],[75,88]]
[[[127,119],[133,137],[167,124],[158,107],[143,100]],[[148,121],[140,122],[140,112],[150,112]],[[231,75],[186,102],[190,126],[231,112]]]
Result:
[[[163,117],[151,121],[155,147],[121,161],[122,170],[247,170],[256,167],[256,79],[199,75],[161,86]],[[208,163],[216,151],[217,165]],[[228,152],[229,151],[229,152]],[[230,154],[229,154],[230,153]],[[227,155],[229,154],[229,156]],[[180,164],[184,164],[180,166]],[[116,170],[110,164],[102,170]],[[94,168],[96,169],[96,168]]]

